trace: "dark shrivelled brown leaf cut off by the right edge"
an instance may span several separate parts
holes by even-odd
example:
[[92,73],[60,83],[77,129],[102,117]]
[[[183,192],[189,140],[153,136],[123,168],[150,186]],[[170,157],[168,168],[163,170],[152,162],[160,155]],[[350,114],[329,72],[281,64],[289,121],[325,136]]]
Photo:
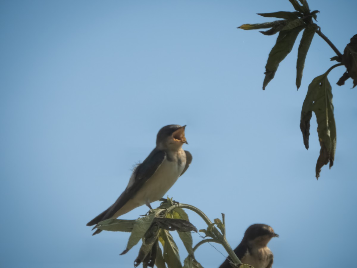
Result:
[[[342,63],[347,68],[347,74],[338,80],[337,85],[345,84],[348,77],[353,79],[353,88],[357,85],[357,34],[351,38],[351,42],[346,45],[342,55]],[[345,78],[345,79],[343,79]]]

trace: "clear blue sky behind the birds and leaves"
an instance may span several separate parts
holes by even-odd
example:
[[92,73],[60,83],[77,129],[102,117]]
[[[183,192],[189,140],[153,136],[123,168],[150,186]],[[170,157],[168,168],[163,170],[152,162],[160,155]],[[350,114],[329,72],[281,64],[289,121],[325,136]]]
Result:
[[[357,3],[309,4],[343,51]],[[120,195],[167,124],[187,124],[193,155],[167,194],[211,219],[225,213],[233,248],[249,225],[266,223],[280,235],[269,244],[275,268],[354,265],[357,91],[351,79],[336,85],[342,67],[330,73],[337,150],[316,181],[316,119],[306,151],[300,112],[335,54],[316,35],[296,91],[296,44],[262,91],[276,36],[236,29],[280,10],[293,11],[287,0],[1,1],[2,265],[132,267],[138,246],[119,256],[129,234],[92,237],[85,224]],[[223,261],[208,244],[196,258],[206,268]]]

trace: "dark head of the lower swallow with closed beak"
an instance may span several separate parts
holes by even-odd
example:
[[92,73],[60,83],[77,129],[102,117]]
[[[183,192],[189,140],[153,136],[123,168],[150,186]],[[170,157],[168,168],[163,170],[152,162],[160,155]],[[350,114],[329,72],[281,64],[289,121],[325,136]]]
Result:
[[266,224],[256,223],[248,227],[244,233],[243,240],[245,240],[246,243],[265,247],[273,237],[279,237],[273,228]]

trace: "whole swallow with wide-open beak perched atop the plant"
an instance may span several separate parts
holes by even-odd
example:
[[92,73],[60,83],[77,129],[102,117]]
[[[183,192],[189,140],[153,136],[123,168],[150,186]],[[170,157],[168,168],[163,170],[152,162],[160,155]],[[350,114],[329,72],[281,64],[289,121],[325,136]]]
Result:
[[[134,169],[124,192],[107,210],[87,223],[87,226],[97,226],[102,220],[116,219],[144,204],[151,209],[150,203],[166,194],[192,161],[191,153],[182,149],[184,143],[188,144],[185,127],[186,125],[167,125],[159,130],[155,149]],[[97,229],[92,235],[100,232]]]

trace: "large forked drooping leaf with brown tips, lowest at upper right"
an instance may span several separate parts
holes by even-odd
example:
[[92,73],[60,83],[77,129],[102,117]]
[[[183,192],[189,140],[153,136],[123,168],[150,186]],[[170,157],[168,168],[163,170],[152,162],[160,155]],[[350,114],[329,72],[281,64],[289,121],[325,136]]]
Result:
[[336,124],[333,115],[332,88],[327,79],[330,70],[312,80],[301,110],[300,129],[306,149],[309,148],[312,111],[316,115],[317,133],[321,147],[320,156],[316,163],[317,179],[320,177],[323,165],[330,162],[330,168],[332,167],[336,151]]

